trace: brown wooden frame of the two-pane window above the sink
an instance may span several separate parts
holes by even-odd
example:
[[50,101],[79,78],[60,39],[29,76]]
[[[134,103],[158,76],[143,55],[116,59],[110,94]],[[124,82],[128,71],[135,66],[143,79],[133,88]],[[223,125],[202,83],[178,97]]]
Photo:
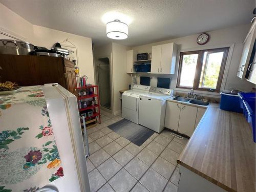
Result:
[[[220,73],[218,76],[218,81],[217,81],[217,86],[216,89],[210,89],[210,88],[200,88],[200,77],[203,67],[203,57],[204,57],[204,52],[210,52],[210,53],[216,53],[216,52],[224,52],[223,53],[223,58],[221,62],[221,67],[220,67]],[[177,76],[177,83],[176,83],[176,88],[180,89],[194,89],[198,91],[208,91],[208,92],[220,92],[221,89],[221,83],[223,80],[223,75],[224,75],[224,70],[227,62],[227,57],[228,57],[228,52],[229,52],[229,47],[224,47],[224,48],[216,48],[216,49],[204,49],[204,50],[198,50],[198,51],[186,51],[186,52],[180,52],[180,61],[179,61],[179,67],[178,67],[178,76]],[[193,87],[186,87],[186,86],[180,86],[180,75],[182,71],[182,61],[183,61],[183,56],[184,55],[190,55],[190,54],[198,54],[198,59],[197,59],[197,66],[196,66],[196,73],[195,73],[195,78],[194,78],[194,84]]]

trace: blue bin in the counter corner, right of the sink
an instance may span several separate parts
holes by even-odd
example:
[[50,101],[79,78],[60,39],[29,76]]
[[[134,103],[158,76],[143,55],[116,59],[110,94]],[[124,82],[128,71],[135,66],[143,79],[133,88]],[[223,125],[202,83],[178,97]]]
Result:
[[220,109],[225,111],[243,113],[243,109],[240,108],[239,96],[229,93],[221,92]]

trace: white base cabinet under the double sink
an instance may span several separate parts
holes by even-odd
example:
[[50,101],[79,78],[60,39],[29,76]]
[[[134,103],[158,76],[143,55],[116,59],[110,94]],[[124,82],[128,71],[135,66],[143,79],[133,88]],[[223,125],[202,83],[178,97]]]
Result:
[[164,126],[190,137],[206,109],[167,101]]

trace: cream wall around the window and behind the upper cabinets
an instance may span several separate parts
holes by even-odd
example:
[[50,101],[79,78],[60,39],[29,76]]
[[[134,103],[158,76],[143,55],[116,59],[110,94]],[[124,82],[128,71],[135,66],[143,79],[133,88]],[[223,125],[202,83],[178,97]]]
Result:
[[[208,48],[218,48],[223,46],[231,46],[234,44],[233,52],[229,51],[229,56],[231,58],[230,67],[226,68],[225,71],[227,72],[226,79],[223,82],[223,88],[230,90],[232,88],[237,88],[242,91],[251,91],[251,88],[254,85],[246,80],[241,80],[237,77],[237,69],[239,66],[242,49],[243,49],[243,40],[246,37],[246,34],[250,28],[251,24],[247,25],[240,25],[234,26],[227,29],[220,29],[216,31],[207,32],[210,35],[209,42],[204,46],[199,46],[196,42],[196,39],[199,34],[190,35],[186,37],[176,38],[176,39],[169,39],[165,41],[154,42],[152,44],[136,46],[132,49],[138,51],[138,53],[150,53],[152,52],[152,46],[166,44],[168,42],[175,42],[179,45],[180,51],[192,51],[192,50],[200,50],[200,49],[208,49]],[[179,54],[179,53],[178,53]],[[154,75],[154,74],[143,74],[142,76],[151,76],[151,86],[157,85],[157,77],[167,77],[172,78],[172,82],[170,85],[170,89],[175,89],[179,91],[187,92],[184,89],[176,89],[176,79],[177,79],[177,70],[178,70],[178,59],[176,62],[176,72],[173,75]],[[139,74],[140,75],[140,74]],[[139,76],[137,78],[137,83],[140,82]]]

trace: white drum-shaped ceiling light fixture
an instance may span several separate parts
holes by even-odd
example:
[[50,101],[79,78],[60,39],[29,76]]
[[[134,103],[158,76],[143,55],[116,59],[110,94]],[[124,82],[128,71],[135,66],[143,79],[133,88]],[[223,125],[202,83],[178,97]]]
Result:
[[126,39],[128,37],[128,26],[118,19],[106,24],[106,36],[111,39]]

